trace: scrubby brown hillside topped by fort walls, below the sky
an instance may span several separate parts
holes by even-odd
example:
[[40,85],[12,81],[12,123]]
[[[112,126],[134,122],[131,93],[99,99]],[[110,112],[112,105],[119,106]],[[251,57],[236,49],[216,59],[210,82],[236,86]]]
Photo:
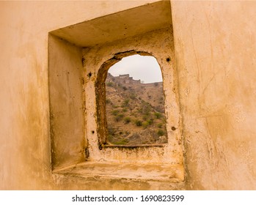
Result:
[[163,83],[141,83],[129,75],[108,74],[106,118],[111,144],[166,143]]

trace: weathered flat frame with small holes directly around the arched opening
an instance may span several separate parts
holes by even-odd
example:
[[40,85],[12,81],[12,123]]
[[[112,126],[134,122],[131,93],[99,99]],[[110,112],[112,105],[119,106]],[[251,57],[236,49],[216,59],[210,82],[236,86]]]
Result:
[[[151,41],[152,44],[148,42]],[[152,46],[153,45],[153,46]],[[161,46],[158,46],[161,45]],[[104,105],[101,113],[97,107],[97,92],[105,86],[105,77],[100,81],[97,87],[98,76],[103,76],[100,67],[110,67],[117,60],[128,56],[131,53],[148,53],[154,56],[161,67],[163,76],[163,87],[165,96],[165,111],[167,117],[167,138],[168,142],[161,146],[138,146],[138,147],[122,147],[122,146],[100,146],[106,138],[106,121],[104,121]],[[175,53],[173,47],[173,36],[171,28],[158,29],[150,31],[146,34],[140,34],[136,37],[130,37],[123,40],[108,42],[104,45],[96,45],[93,48],[84,48],[83,58],[84,76],[87,76],[84,84],[86,99],[86,110],[90,113],[86,119],[87,122],[87,141],[89,149],[89,158],[91,160],[103,160],[117,162],[137,161],[145,163],[182,163],[182,136],[180,134],[180,113],[178,106],[177,82],[175,81]],[[101,88],[100,88],[101,86]],[[100,93],[104,99],[104,92]],[[100,100],[98,100],[100,102]],[[104,100],[101,100],[104,104]],[[94,116],[94,118],[92,118]],[[98,119],[97,119],[98,118]],[[92,134],[92,131],[94,134]],[[99,132],[103,136],[103,141],[99,142]],[[102,149],[104,147],[104,149]],[[147,154],[145,154],[147,153]],[[150,154],[149,154],[150,153]],[[138,160],[136,156],[147,156]],[[150,156],[151,155],[151,156]],[[120,160],[122,156],[122,160]],[[154,157],[153,157],[154,156]]]

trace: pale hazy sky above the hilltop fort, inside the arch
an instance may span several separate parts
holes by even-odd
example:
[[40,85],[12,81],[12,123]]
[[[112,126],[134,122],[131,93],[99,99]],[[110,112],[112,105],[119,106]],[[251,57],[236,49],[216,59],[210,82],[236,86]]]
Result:
[[162,75],[158,62],[153,56],[128,56],[109,68],[111,75],[130,74],[134,80],[144,83],[161,82]]

